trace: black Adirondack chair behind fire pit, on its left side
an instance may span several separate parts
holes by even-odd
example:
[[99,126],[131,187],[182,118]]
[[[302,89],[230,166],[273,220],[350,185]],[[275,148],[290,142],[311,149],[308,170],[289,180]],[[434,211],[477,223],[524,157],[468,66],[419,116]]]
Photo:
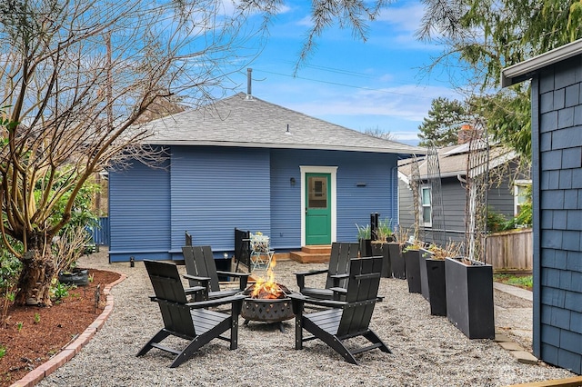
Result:
[[[216,263],[210,246],[183,246],[186,275],[190,286],[202,286],[205,292],[201,294],[204,300],[228,297],[246,289],[250,273],[233,273],[216,270]],[[239,279],[239,286],[231,289],[221,289],[218,275],[225,275]],[[199,299],[197,299],[199,301]]]

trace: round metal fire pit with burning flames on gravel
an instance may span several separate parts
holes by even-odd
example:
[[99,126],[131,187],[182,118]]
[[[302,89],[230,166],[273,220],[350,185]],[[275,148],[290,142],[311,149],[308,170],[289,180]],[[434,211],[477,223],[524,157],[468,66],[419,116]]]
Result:
[[243,292],[248,297],[243,301],[240,315],[245,319],[245,324],[249,321],[279,323],[279,329],[285,332],[282,322],[292,319],[295,314],[291,307],[291,299],[287,297],[291,291],[285,285],[275,282],[273,273],[275,264],[275,261],[272,261],[267,270],[267,281],[259,278]]

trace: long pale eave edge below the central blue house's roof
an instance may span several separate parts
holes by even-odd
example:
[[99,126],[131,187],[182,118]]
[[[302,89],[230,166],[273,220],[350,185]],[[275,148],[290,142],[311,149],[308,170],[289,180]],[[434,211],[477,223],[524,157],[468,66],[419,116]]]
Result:
[[367,152],[375,154],[426,154],[426,150],[415,146],[411,147],[358,147],[358,146],[338,146],[326,144],[273,144],[273,143],[245,143],[232,141],[156,141],[152,145],[170,146],[228,146],[242,148],[272,148],[272,149],[309,149],[318,151],[348,151]]

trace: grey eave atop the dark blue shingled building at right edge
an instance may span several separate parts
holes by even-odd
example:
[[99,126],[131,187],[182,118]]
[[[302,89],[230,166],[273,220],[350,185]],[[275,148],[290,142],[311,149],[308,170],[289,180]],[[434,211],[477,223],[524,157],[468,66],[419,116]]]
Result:
[[534,56],[517,65],[506,67],[501,71],[501,87],[523,82],[536,74],[539,69],[579,54],[582,54],[582,39]]

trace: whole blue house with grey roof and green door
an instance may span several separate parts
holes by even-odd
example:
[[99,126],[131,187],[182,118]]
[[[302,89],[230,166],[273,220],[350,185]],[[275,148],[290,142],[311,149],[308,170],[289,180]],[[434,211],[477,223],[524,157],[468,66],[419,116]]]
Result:
[[250,94],[146,124],[166,153],[109,171],[111,262],[181,260],[185,232],[216,258],[235,228],[271,237],[277,253],[356,241],[370,213],[397,218],[397,161],[423,153]]

